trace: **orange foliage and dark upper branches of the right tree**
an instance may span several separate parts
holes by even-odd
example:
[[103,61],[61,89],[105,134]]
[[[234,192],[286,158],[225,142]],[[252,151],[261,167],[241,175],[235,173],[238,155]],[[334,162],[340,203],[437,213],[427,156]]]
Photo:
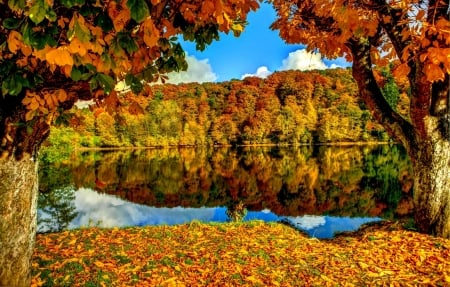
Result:
[[[353,62],[362,97],[406,147],[414,146],[417,137],[426,137],[428,115],[448,112],[449,1],[271,2],[278,15],[272,28],[279,30],[281,38]],[[412,100],[407,119],[411,121],[382,95],[385,77],[373,67],[388,64],[393,66],[395,81],[409,85]]]

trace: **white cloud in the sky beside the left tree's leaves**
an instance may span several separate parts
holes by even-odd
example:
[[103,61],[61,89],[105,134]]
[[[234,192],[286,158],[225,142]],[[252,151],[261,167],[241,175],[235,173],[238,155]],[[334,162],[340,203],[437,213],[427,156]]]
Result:
[[217,80],[217,75],[213,72],[208,59],[198,60],[194,56],[186,55],[186,61],[188,63],[187,71],[167,74],[169,77],[167,83],[203,83]]

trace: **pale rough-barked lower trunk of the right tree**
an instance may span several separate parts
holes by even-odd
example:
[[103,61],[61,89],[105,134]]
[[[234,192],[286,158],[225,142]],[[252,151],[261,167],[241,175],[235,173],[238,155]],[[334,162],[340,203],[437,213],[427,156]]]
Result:
[[450,238],[450,143],[439,135],[438,124],[427,122],[431,136],[410,151],[415,221],[420,231]]

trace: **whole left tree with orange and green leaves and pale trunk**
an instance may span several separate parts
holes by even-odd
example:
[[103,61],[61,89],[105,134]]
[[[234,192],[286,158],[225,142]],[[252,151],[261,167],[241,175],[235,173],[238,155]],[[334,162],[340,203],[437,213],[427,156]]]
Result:
[[198,49],[238,35],[256,0],[0,1],[0,285],[29,286],[37,153],[78,100],[120,112],[115,85],[187,68],[177,37]]

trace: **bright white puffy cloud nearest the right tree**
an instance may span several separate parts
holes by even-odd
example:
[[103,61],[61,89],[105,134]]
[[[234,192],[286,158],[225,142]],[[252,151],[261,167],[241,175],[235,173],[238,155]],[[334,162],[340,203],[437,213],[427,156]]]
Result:
[[327,65],[322,61],[319,53],[310,53],[306,50],[297,50],[289,53],[289,56],[283,60],[280,70],[314,70],[327,69]]

